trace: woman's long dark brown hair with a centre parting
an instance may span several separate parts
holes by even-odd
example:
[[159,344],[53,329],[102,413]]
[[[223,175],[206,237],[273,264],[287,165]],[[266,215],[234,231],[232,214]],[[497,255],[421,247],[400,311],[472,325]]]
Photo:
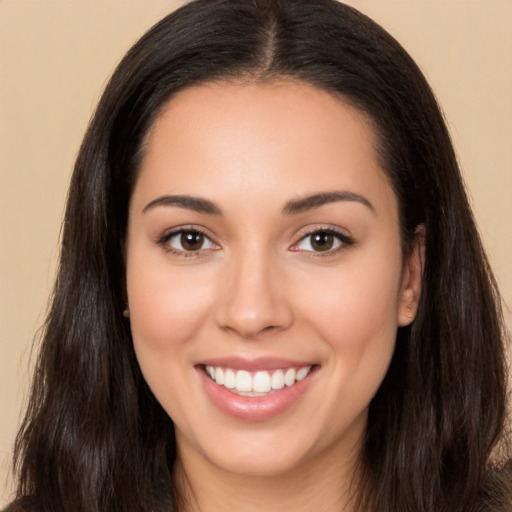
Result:
[[173,424],[141,375],[122,314],[128,202],[144,136],[169,98],[241,78],[307,82],[364,112],[399,200],[405,252],[425,226],[418,315],[398,330],[370,405],[361,509],[510,510],[509,473],[489,469],[506,409],[500,301],[447,128],[402,47],[334,0],[197,0],[116,69],[71,181],[8,510],[175,506]]

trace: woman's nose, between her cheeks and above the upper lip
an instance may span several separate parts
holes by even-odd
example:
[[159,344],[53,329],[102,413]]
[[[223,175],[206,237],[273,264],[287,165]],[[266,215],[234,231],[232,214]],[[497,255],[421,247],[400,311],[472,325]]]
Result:
[[[263,252],[263,251],[262,251]],[[291,297],[282,269],[272,258],[247,251],[227,262],[219,286],[216,320],[227,331],[245,339],[279,332],[293,323]]]

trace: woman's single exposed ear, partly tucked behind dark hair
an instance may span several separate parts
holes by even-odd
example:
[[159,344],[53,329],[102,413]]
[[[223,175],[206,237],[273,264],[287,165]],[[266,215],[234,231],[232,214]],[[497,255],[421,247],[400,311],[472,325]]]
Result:
[[404,262],[402,284],[398,298],[398,326],[412,323],[418,310],[425,262],[425,226],[420,224],[414,233],[412,247]]

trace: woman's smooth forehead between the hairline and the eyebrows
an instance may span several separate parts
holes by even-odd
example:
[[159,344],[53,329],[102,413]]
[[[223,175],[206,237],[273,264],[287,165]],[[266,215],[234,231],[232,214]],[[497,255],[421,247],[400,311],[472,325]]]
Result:
[[151,127],[136,192],[389,195],[376,146],[364,114],[305,83],[195,86],[173,97]]

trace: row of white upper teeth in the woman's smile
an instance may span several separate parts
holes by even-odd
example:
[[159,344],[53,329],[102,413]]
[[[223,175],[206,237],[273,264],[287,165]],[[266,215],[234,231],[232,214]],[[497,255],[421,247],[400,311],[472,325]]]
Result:
[[305,379],[313,366],[248,372],[220,366],[204,366],[206,374],[219,386],[240,396],[267,396]]

